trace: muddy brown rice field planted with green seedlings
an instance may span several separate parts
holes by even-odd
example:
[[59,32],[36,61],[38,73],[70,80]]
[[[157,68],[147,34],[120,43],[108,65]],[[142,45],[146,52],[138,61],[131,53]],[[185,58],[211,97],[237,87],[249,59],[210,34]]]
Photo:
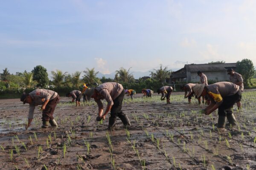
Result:
[[19,99],[0,100],[0,169],[3,170],[255,170],[256,91],[243,93],[242,111],[233,110],[239,125],[220,134],[217,113],[199,112],[204,105],[187,104],[183,93],[173,93],[171,104],[125,96],[123,111],[132,126],[117,119],[108,132],[108,116],[96,122],[94,101],[76,107],[62,97],[55,110],[59,127],[41,129],[41,111],[28,131],[29,105]]

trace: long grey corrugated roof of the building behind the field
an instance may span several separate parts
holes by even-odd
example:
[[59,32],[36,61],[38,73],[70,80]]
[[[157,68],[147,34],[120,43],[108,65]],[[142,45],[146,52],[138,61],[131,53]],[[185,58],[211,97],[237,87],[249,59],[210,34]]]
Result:
[[184,66],[186,71],[226,71],[227,68],[236,68],[236,63],[222,63],[222,64],[188,64]]

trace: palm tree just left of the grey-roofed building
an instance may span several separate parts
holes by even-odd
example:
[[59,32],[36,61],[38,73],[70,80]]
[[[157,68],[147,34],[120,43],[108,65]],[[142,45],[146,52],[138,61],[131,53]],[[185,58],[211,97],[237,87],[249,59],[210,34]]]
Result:
[[168,68],[165,67],[164,69],[162,68],[162,65],[160,65],[160,69],[154,69],[154,71],[151,71],[151,78],[155,79],[159,82],[166,82],[166,79],[170,77],[171,75],[171,70],[167,70]]

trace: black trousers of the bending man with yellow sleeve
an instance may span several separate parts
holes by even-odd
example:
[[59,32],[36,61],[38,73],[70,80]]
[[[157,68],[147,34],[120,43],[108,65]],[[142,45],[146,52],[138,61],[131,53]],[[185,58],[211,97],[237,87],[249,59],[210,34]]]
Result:
[[223,102],[218,107],[218,115],[219,116],[226,116],[233,114],[233,112],[230,110],[230,108],[233,107],[233,105],[239,100],[241,97],[241,91],[239,90],[236,94],[232,96],[226,96],[223,98]]

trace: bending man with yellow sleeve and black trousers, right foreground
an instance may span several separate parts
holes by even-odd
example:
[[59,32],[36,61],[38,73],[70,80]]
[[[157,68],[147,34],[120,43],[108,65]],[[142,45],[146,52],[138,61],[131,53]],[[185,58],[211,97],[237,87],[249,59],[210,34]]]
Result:
[[231,82],[216,82],[212,85],[196,85],[194,92],[197,97],[208,96],[211,100],[210,105],[204,110],[209,115],[218,108],[218,128],[225,130],[226,117],[231,125],[236,125],[236,118],[230,108],[241,97],[238,85]]

